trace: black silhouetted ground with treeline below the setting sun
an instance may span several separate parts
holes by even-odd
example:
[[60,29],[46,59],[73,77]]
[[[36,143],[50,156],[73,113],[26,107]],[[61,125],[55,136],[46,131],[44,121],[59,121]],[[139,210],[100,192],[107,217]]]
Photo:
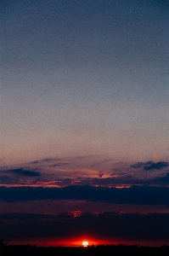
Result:
[[0,247],[1,256],[148,256],[148,255],[169,255],[169,246],[162,247],[138,247],[124,245],[110,245],[97,247],[35,247],[35,246],[8,246]]

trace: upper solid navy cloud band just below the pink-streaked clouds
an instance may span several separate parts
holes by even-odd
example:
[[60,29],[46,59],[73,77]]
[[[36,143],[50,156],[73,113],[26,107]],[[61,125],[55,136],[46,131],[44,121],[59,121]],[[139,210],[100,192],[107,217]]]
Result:
[[132,186],[115,189],[89,185],[72,185],[64,188],[0,187],[0,200],[85,200],[116,204],[168,205],[169,188]]

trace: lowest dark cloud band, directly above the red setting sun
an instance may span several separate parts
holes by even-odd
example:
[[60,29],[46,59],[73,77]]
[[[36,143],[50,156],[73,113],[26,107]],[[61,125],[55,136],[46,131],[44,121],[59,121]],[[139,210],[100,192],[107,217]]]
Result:
[[[8,220],[8,221],[7,221]],[[0,214],[0,236],[73,237],[95,236],[125,240],[169,239],[169,213],[86,212],[78,217],[69,212],[58,215],[9,213]]]

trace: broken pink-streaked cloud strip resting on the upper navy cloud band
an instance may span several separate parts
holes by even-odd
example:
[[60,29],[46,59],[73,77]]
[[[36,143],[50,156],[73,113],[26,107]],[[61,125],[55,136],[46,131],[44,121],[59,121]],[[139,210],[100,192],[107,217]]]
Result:
[[[18,170],[18,169],[17,169]],[[20,170],[20,169],[19,169]],[[8,173],[8,172],[5,172]],[[14,175],[17,174],[17,175]],[[20,179],[21,177],[21,179]],[[53,178],[53,179],[52,179]],[[136,178],[132,176],[123,176],[123,177],[103,177],[103,173],[99,172],[99,177],[93,177],[93,178],[59,178],[54,176],[45,176],[44,173],[40,172],[32,172],[28,171],[24,174],[19,171],[13,172],[13,175],[11,175],[11,172],[8,173],[8,175],[1,175],[0,176],[0,183],[1,185],[42,185],[42,186],[56,186],[56,187],[65,187],[70,186],[72,184],[81,184],[81,185],[99,185],[99,186],[132,186],[132,185],[160,185],[160,186],[167,186],[169,184],[169,172],[166,174],[163,173],[161,176],[156,176],[153,178]]]

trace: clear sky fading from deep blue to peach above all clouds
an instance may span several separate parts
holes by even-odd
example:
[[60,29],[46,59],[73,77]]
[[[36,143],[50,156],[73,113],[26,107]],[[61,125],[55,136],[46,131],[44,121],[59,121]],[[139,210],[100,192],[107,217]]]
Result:
[[3,166],[168,155],[168,1],[3,1]]

